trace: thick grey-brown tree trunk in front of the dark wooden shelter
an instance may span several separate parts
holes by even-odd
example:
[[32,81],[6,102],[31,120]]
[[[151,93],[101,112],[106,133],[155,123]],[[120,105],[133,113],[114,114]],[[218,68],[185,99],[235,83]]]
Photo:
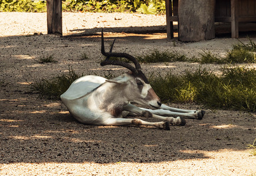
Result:
[[215,0],[179,0],[179,40],[215,38],[214,11]]

